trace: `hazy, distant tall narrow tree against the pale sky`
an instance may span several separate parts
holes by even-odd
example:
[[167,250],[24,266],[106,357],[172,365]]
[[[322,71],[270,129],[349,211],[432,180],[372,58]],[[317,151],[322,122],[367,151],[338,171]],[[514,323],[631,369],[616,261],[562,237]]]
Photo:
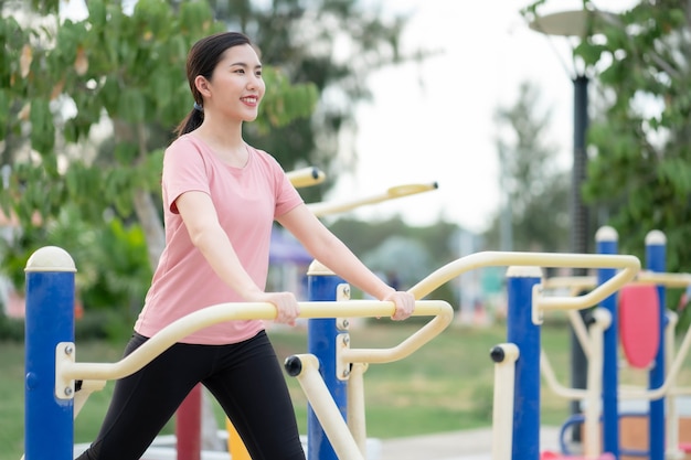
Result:
[[[557,167],[557,150],[545,142],[550,111],[538,113],[539,89],[520,87],[512,107],[498,108],[497,150],[504,206],[486,234],[488,246],[504,250],[564,252],[568,246],[568,176]],[[508,227],[508,228],[507,228]],[[502,231],[503,228],[503,231]],[[512,242],[503,244],[502,232]]]

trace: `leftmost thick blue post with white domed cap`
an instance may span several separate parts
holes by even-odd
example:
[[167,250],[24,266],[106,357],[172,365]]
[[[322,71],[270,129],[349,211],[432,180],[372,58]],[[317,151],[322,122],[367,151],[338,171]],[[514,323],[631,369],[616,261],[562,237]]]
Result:
[[49,246],[29,258],[25,271],[25,459],[71,460],[74,388],[56,394],[55,349],[60,342],[74,342],[76,269],[67,253]]

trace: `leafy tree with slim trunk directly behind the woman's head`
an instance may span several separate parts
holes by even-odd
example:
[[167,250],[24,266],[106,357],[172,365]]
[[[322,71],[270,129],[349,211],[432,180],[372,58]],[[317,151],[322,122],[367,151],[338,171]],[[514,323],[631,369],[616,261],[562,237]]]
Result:
[[[52,13],[40,23],[23,26],[7,14],[0,20],[0,140],[12,140],[1,158],[13,168],[0,204],[21,222],[18,256],[45,239],[46,221],[74,206],[96,225],[106,211],[139,223],[155,265],[163,232],[153,196],[170,140],[160,132],[170,132],[191,109],[189,47],[225,25],[201,1],[173,9],[163,0],[139,0],[126,13],[118,1],[89,0],[88,18],[77,22],[60,22],[56,3],[34,2]],[[270,66],[264,75],[269,89],[257,129],[312,113],[313,85],[293,85]],[[93,139],[100,122],[111,126],[110,154],[68,148]]]

